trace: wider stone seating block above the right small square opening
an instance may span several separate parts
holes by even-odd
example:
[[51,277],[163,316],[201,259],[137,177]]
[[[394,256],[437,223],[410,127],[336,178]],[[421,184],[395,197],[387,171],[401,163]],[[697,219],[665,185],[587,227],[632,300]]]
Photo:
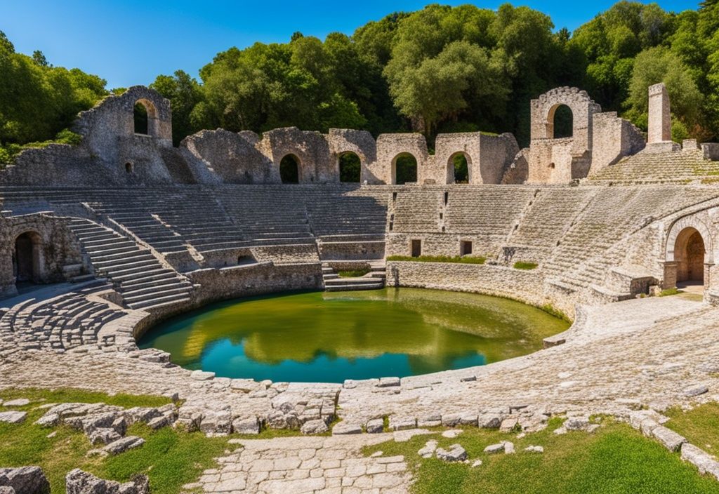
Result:
[[532,187],[452,187],[444,208],[446,231],[507,236],[534,197]]

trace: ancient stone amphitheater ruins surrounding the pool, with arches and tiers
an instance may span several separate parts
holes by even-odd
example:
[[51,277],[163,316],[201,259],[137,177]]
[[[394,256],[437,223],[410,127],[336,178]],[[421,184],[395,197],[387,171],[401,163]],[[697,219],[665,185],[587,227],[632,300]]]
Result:
[[[562,105],[573,132],[554,139]],[[110,96],[78,117],[81,145],[27,150],[0,172],[0,388],[175,396],[178,423],[208,433],[339,416],[336,436],[377,420],[382,430],[383,417],[395,430],[512,418],[531,428],[567,411],[626,417],[715,399],[719,144],[670,140],[663,85],[649,106],[647,138],[585,91],[557,88],[531,103],[528,148],[510,134],[441,134],[431,154],[420,134],[345,129],[218,129],[173,147],[167,100],[142,87]],[[357,183],[339,181],[347,153]],[[457,154],[469,184],[454,183]],[[288,156],[298,183],[283,183]],[[416,182],[397,185],[403,156]],[[388,261],[467,253],[488,261]],[[372,271],[334,275],[353,266]],[[27,297],[28,284],[53,285]],[[216,300],[385,284],[509,297],[574,324],[526,357],[344,384],[221,378],[136,345],[156,322]],[[675,286],[703,300],[657,297]]]

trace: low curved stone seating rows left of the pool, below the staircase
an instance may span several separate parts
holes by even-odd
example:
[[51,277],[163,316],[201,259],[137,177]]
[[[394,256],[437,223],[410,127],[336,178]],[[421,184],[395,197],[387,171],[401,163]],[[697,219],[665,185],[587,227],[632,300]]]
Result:
[[109,287],[98,283],[40,302],[29,299],[0,317],[0,334],[12,337],[26,350],[42,348],[63,353],[83,345],[111,345],[114,341],[110,339],[99,340],[99,330],[127,312],[98,297],[88,297]]

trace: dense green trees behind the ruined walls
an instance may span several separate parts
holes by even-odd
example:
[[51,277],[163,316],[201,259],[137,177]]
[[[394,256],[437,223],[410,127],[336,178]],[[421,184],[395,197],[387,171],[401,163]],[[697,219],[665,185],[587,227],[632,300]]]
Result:
[[[218,53],[199,80],[178,70],[151,87],[173,106],[178,144],[200,129],[281,126],[513,132],[528,143],[529,100],[585,88],[605,111],[646,129],[648,85],[672,98],[674,139],[719,137],[719,5],[667,12],[620,1],[575,32],[539,11],[432,4],[326,39]],[[0,144],[52,139],[107,94],[105,81],[14,52],[0,35]],[[561,125],[558,123],[558,130]],[[431,142],[431,140],[430,140]]]

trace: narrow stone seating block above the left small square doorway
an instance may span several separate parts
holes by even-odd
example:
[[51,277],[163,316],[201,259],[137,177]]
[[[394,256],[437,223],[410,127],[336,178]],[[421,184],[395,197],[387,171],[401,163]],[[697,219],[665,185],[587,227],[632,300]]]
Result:
[[390,223],[395,233],[439,232],[443,190],[407,187],[393,192]]

